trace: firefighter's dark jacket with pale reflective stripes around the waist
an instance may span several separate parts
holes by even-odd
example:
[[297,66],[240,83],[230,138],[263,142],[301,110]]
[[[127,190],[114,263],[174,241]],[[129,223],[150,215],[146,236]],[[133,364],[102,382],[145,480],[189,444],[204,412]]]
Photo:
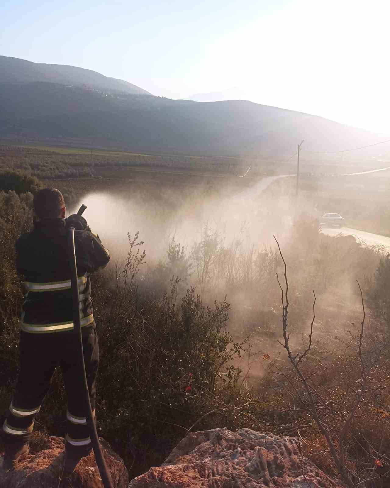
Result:
[[[88,274],[104,267],[110,256],[98,236],[86,230],[75,231],[75,249],[81,326],[95,326]],[[20,236],[16,251],[17,271],[25,278],[26,290],[21,330],[35,334],[72,330],[73,295],[65,220],[35,223],[32,232]]]

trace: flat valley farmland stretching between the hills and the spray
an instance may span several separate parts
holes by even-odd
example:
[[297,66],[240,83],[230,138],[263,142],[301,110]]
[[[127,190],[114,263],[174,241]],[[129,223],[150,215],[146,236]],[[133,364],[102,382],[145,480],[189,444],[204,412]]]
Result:
[[[251,170],[244,178],[248,167]],[[266,176],[294,174],[295,164],[234,158],[139,154],[108,149],[48,146],[40,144],[0,145],[0,170],[20,169],[55,184],[77,201],[90,191],[133,191],[148,187],[165,189],[205,187],[209,192],[226,192],[234,197]],[[340,213],[348,226],[390,235],[390,170],[351,176],[330,176],[334,172],[353,173],[370,167],[310,165],[303,163],[299,183],[298,208],[319,217]],[[273,183],[274,206],[287,195],[294,199],[295,179]],[[226,188],[226,191],[224,190]],[[142,190],[143,191],[143,190]],[[290,205],[291,206],[291,205]]]

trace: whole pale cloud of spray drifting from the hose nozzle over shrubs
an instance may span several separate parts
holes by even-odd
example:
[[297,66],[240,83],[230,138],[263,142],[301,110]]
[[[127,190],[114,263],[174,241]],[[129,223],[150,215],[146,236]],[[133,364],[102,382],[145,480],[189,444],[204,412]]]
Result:
[[[294,347],[302,344],[303,334],[309,330],[313,290],[317,296],[316,340],[325,344],[337,334],[345,336],[350,324],[358,323],[361,304],[355,280],[364,285],[364,277],[372,275],[379,260],[353,239],[319,234],[310,204],[302,199],[297,208],[294,188],[290,194],[273,190],[273,183],[283,178],[288,177],[266,177],[246,186],[143,185],[127,189],[118,185],[115,192],[86,194],[71,213],[81,203],[87,205],[84,216],[110,250],[112,265],[117,260],[123,262],[128,252],[127,232],[134,236],[139,231],[149,270],[166,262],[173,237],[184,246],[188,258],[204,238],[207,226],[220,244],[218,256],[213,258],[214,274],[207,283],[199,283],[193,267],[184,285],[196,285],[204,303],[212,304],[227,295],[234,339],[249,334],[257,354],[276,354],[281,336],[276,272],[282,281],[284,268],[273,235],[288,264]],[[303,209],[307,216],[300,218]],[[161,290],[169,288],[167,276],[164,279]],[[262,366],[252,367],[252,377],[262,374]]]

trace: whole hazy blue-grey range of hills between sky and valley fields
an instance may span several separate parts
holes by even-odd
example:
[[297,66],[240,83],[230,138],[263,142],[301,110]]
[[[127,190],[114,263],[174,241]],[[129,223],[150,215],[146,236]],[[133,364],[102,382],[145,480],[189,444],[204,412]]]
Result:
[[[12,60],[16,59],[0,58],[8,66]],[[282,161],[292,156],[298,142],[304,139],[307,152],[302,153],[302,158],[320,161],[322,155],[309,151],[341,151],[389,139],[322,117],[248,101],[170,100],[137,87],[137,93],[102,92],[90,85],[72,84],[75,81],[70,79],[77,78],[81,83],[81,75],[76,77],[75,73],[85,72],[96,75],[96,80],[115,82],[129,90],[134,85],[72,66],[58,65],[57,70],[57,65],[16,61],[19,71],[15,70],[12,76],[10,69],[0,69],[2,140]],[[46,70],[47,66],[50,70]],[[34,81],[42,73],[47,79]],[[389,148],[390,144],[384,144],[379,150],[373,147],[345,153],[343,163],[377,164],[372,158],[378,154],[387,158]],[[341,155],[329,155],[328,159],[337,163],[337,158]]]

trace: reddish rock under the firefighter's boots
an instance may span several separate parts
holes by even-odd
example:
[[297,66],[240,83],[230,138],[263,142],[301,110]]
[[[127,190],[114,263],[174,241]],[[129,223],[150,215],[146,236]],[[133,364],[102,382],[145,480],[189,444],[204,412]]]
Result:
[[[109,444],[100,439],[104,458],[115,488],[127,488],[129,476],[122,459]],[[102,488],[95,456],[91,453],[81,459],[71,476],[61,476],[64,441],[61,437],[49,437],[46,447],[37,454],[30,454],[20,462],[15,471],[0,468],[1,488]],[[2,465],[2,455],[0,466]]]

